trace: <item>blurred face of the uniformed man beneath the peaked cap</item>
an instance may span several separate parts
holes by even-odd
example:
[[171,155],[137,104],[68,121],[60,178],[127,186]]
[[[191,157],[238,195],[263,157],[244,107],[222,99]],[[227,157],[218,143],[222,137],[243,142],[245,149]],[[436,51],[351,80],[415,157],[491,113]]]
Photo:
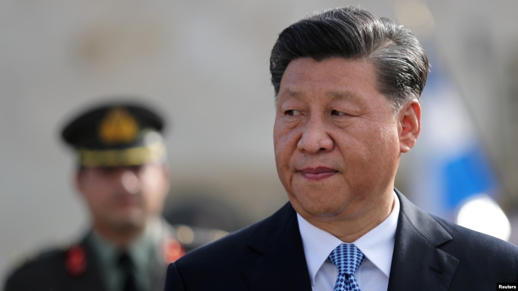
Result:
[[134,231],[160,215],[169,189],[165,165],[84,168],[76,185],[87,202],[94,227]]

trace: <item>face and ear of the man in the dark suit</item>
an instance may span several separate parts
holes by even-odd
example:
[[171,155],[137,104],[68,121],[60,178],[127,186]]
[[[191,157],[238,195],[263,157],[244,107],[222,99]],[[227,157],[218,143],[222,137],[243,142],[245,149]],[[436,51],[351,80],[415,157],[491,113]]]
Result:
[[292,61],[280,84],[274,147],[297,212],[307,220],[353,219],[392,199],[400,153],[417,137],[406,140],[413,130],[406,123],[415,123],[419,110],[410,101],[395,112],[369,63]]

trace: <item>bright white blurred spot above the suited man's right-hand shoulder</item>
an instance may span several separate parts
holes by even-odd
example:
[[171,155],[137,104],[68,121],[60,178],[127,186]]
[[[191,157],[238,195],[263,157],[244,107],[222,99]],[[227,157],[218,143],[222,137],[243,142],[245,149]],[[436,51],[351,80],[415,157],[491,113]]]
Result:
[[484,194],[471,196],[461,203],[457,224],[506,241],[511,236],[511,223],[506,214]]

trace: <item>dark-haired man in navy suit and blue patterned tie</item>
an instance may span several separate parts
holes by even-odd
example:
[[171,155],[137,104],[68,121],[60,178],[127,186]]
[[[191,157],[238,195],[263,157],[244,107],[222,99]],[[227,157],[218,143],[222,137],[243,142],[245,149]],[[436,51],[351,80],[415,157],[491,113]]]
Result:
[[167,291],[495,290],[518,248],[394,188],[421,130],[428,59],[403,26],[354,7],[287,27],[270,58],[274,148],[290,202],[170,264]]

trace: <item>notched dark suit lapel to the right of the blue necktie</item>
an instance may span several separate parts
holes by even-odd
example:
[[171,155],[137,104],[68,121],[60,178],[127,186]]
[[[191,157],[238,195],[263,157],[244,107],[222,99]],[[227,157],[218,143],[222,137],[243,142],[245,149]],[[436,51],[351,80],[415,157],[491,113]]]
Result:
[[401,211],[388,291],[448,290],[458,259],[438,249],[451,235],[396,190]]

